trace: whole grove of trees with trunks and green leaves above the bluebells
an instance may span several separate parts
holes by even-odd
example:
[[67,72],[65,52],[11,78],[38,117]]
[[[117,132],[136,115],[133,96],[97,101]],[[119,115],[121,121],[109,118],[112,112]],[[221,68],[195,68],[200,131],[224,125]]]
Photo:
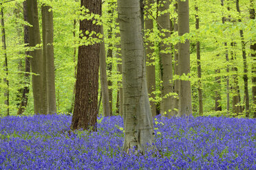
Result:
[[156,114],[255,118],[255,6],[1,1],[0,114],[73,112],[72,130],[119,114],[125,150],[153,143]]

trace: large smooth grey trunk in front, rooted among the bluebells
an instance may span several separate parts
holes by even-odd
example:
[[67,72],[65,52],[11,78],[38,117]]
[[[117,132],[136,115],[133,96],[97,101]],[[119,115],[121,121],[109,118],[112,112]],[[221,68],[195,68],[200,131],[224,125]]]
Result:
[[125,141],[122,149],[145,151],[153,147],[153,121],[142,38],[140,0],[118,0],[122,47],[123,119]]

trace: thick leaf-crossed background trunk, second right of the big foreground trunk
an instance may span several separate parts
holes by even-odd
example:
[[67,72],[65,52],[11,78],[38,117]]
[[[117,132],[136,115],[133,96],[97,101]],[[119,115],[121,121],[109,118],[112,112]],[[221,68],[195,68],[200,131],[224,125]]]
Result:
[[173,64],[171,44],[164,42],[164,39],[171,36],[171,22],[170,13],[166,12],[169,9],[169,1],[160,1],[159,10],[162,13],[158,16],[158,23],[160,25],[160,34],[162,42],[160,42],[160,74],[162,77],[162,101],[160,104],[160,113],[164,117],[171,117],[175,115],[173,111]]

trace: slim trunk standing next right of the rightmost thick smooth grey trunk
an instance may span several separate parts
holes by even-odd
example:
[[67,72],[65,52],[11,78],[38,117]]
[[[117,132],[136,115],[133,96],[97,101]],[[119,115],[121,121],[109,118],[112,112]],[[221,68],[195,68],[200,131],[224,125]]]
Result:
[[[199,16],[198,5],[195,5],[195,29],[199,29]],[[199,115],[203,115],[203,103],[202,103],[202,81],[201,81],[201,56],[200,56],[200,42],[196,42],[196,56],[198,64],[198,100],[199,100]]]

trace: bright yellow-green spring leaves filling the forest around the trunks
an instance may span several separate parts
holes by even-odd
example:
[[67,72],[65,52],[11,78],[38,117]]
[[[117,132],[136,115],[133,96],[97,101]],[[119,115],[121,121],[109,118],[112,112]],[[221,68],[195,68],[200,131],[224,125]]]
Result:
[[[193,0],[190,3],[190,33],[178,36],[178,32],[173,30],[166,30],[164,32],[171,32],[169,38],[160,38],[160,32],[158,30],[158,16],[166,12],[170,12],[171,22],[173,18],[177,17],[174,12],[174,3],[171,2],[169,10],[159,12],[158,5],[153,3],[150,6],[145,5],[145,12],[148,14],[149,19],[153,19],[153,32],[151,30],[145,30],[145,43],[153,42],[154,52],[151,53],[151,59],[155,62],[147,63],[149,65],[156,66],[156,89],[154,94],[156,98],[150,98],[151,101],[159,103],[162,100],[161,97],[161,81],[159,71],[159,43],[177,45],[178,42],[184,42],[189,39],[191,43],[191,73],[189,75],[173,75],[174,80],[189,80],[191,81],[191,87],[193,92],[193,112],[197,115],[198,112],[198,75],[197,75],[197,59],[195,45],[197,41],[200,41],[201,46],[201,65],[202,65],[202,90],[203,90],[203,104],[204,115],[226,115],[226,79],[229,77],[230,82],[234,81],[234,75],[237,75],[242,97],[241,106],[244,106],[244,83],[243,83],[243,63],[242,63],[242,45],[239,37],[239,30],[243,29],[244,39],[246,40],[246,53],[248,62],[248,78],[251,80],[251,66],[253,59],[250,58],[250,42],[255,42],[256,39],[256,21],[249,19],[249,0],[239,1],[241,15],[239,15],[235,8],[234,1],[224,1],[222,6],[220,1],[209,0]],[[3,49],[0,49],[0,112],[5,114],[6,105],[3,95],[4,90],[7,88],[6,83],[3,82],[3,78],[7,78],[10,82],[10,113],[16,114],[18,104],[20,102],[19,90],[25,86],[24,79],[24,51],[32,51],[32,48],[25,47],[23,43],[23,25],[28,25],[23,21],[23,0],[11,1],[3,3],[4,21],[6,24],[6,40],[7,40],[7,56],[8,56],[8,77],[6,77],[6,71],[3,69]],[[116,0],[106,0],[103,3],[102,16],[91,14],[86,8],[80,7],[79,1],[50,1],[39,0],[39,22],[41,23],[41,5],[51,5],[54,13],[54,62],[55,62],[55,74],[56,74],[56,104],[58,112],[72,112],[72,102],[74,102],[74,84],[75,84],[75,68],[77,63],[78,47],[80,45],[92,45],[93,43],[100,42],[102,35],[98,32],[85,31],[85,35],[79,32],[79,21],[81,19],[92,20],[92,23],[96,25],[103,25],[104,27],[104,39],[106,52],[112,50],[113,58],[107,58],[107,64],[111,64],[112,70],[109,75],[112,85],[109,89],[113,90],[113,112],[116,112],[116,100],[117,91],[122,85],[118,82],[122,81],[122,75],[117,71],[117,64],[120,59],[117,56],[120,54],[120,36],[119,26],[117,23],[118,12]],[[195,11],[195,4],[198,6],[198,12]],[[200,28],[195,29],[195,14],[198,14],[200,19]],[[225,18],[225,23],[222,23],[222,17]],[[238,19],[242,20],[242,23],[237,22]],[[32,26],[32,25],[29,25]],[[111,31],[111,37],[108,36]],[[83,37],[83,38],[80,38]],[[226,46],[224,46],[226,42]],[[232,46],[231,42],[235,42],[236,45]],[[74,53],[76,50],[76,53]],[[173,49],[165,49],[162,53],[173,53]],[[225,55],[228,51],[229,61],[226,61]],[[235,58],[231,60],[231,52],[235,53]],[[19,68],[19,64],[22,65]],[[227,66],[230,68],[229,73],[226,72]],[[233,67],[237,67],[237,71],[233,70]],[[216,73],[215,70],[220,69],[220,73]],[[221,84],[217,85],[215,77],[220,76]],[[30,79],[31,80],[31,79]],[[30,82],[31,84],[32,82]],[[232,84],[231,84],[232,85]],[[252,83],[249,81],[249,95],[251,97]],[[214,112],[215,106],[215,90],[218,90],[221,94],[222,112]],[[177,97],[175,93],[169,93],[167,95],[173,95]],[[232,97],[236,95],[231,90],[231,105]],[[250,99],[250,104],[252,101]],[[253,107],[251,107],[253,108]],[[102,108],[100,108],[100,111]],[[33,113],[33,97],[32,88],[30,86],[30,94],[28,100],[28,107],[25,110],[25,114]],[[232,115],[232,114],[231,114]],[[235,115],[234,115],[235,116]],[[238,115],[238,117],[244,117],[244,113]]]

